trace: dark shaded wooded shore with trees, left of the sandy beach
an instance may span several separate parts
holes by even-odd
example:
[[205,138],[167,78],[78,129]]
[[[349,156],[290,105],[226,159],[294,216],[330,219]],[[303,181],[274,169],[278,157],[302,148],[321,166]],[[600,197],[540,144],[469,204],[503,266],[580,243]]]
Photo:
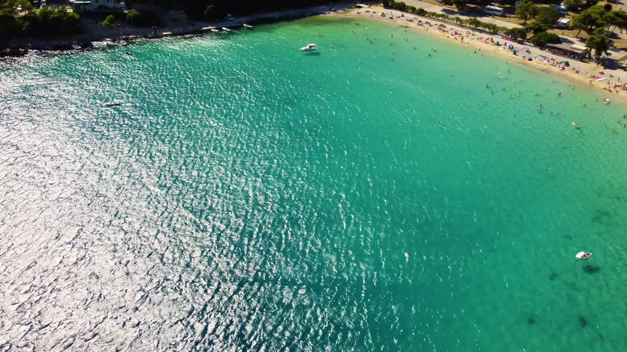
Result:
[[[270,0],[263,3],[263,8],[254,0],[237,5],[224,0],[214,0],[209,5],[208,0],[149,1],[149,8],[159,8],[163,12],[117,9],[83,13],[80,16],[67,6],[34,9],[28,0],[9,0],[0,4],[0,57],[23,56],[34,49],[71,50],[76,44],[82,48],[90,48],[93,42],[199,34],[216,28],[243,26],[250,22],[281,21],[350,8],[350,4],[329,4],[322,0]],[[137,0],[126,2],[131,7]],[[159,6],[154,6],[153,2],[159,3]],[[169,3],[165,5],[165,9],[164,2]],[[247,3],[250,6],[245,6]],[[137,7],[140,7],[139,4]],[[169,10],[176,8],[179,11]],[[234,18],[229,18],[231,14]],[[41,21],[40,17],[43,18]],[[40,23],[47,27],[40,26]],[[66,26],[66,23],[71,26]],[[60,27],[69,29],[59,31]]]

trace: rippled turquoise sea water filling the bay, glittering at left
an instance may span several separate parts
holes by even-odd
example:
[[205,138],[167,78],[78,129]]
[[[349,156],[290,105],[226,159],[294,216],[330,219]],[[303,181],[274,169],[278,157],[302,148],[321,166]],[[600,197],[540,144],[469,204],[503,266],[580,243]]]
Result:
[[0,66],[1,350],[627,349],[625,106],[360,22]]

